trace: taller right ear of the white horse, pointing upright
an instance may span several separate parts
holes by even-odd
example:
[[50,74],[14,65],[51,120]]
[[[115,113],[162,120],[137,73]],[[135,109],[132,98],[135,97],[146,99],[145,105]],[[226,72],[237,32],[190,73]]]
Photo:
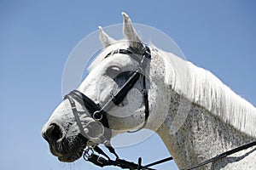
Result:
[[122,13],[124,18],[123,23],[123,32],[125,37],[130,43],[131,48],[134,48],[137,52],[143,54],[144,53],[144,45],[143,41],[140,37],[138,37],[136,30],[132,26],[131,19],[124,12]]

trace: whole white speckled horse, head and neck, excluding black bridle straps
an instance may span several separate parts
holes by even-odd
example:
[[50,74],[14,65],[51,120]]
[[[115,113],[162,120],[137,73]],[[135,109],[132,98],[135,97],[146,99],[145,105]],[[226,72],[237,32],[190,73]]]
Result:
[[[78,88],[98,105],[105,105],[127,82],[126,73],[139,67],[137,59],[131,57],[133,54],[113,51],[132,48],[139,55],[145,50],[128,15],[123,13],[123,17],[126,41],[113,40],[100,27],[104,50],[90,65],[90,74]],[[145,71],[149,116],[144,128],[160,135],[179,168],[193,167],[256,139],[256,109],[253,105],[231,91],[210,71],[153,45],[149,48],[151,60]],[[112,138],[143,127],[145,103],[142,91],[140,77],[125,99],[108,111]],[[88,112],[84,105],[76,99],[73,101],[84,127],[93,118],[84,114]],[[52,154],[60,161],[75,161],[82,156],[86,146],[82,130],[73,116],[70,101],[64,99],[44,125],[42,134],[49,142]],[[201,169],[256,169],[255,150],[256,147],[241,150]]]

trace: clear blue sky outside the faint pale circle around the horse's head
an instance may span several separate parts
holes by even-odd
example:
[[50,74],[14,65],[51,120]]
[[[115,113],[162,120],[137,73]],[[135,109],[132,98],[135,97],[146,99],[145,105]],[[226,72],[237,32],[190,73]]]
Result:
[[[40,131],[61,102],[62,71],[72,49],[97,26],[121,23],[122,11],[133,22],[165,32],[189,61],[256,105],[253,0],[2,0],[0,169],[98,169],[84,161],[57,161]],[[156,135],[118,152],[131,161],[143,156],[144,163],[169,156]],[[173,163],[157,168],[176,169]]]

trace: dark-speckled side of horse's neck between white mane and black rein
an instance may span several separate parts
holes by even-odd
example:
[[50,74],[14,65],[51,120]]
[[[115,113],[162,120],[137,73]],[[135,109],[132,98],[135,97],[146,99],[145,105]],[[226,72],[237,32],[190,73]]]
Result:
[[[160,70],[162,67],[157,68]],[[226,150],[255,140],[248,133],[243,133],[225,122],[218,113],[212,112],[218,111],[218,108],[209,111],[191,101],[184,93],[177,93],[172,85],[160,84],[166,80],[157,82],[160,86],[157,91],[165,95],[153,99],[156,108],[152,109],[148,128],[160,135],[179,168],[191,167]],[[163,108],[168,108],[167,113]]]

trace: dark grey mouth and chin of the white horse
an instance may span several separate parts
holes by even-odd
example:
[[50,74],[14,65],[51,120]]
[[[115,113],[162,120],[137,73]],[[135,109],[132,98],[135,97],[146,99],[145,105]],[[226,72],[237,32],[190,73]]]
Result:
[[79,134],[75,138],[64,138],[55,146],[50,147],[50,151],[59,161],[73,162],[78,160],[84,152],[87,139]]

